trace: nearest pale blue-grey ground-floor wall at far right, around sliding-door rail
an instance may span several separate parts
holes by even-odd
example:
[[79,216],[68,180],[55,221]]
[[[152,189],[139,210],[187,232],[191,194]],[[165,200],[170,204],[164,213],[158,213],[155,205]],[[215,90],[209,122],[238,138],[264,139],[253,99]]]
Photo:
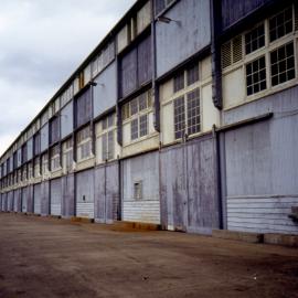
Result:
[[224,114],[224,121],[274,117],[224,136],[227,228],[298,234],[298,87]]

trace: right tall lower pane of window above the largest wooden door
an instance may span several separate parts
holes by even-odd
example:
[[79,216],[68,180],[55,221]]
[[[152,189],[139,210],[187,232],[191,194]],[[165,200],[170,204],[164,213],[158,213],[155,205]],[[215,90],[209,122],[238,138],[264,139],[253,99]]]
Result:
[[200,131],[200,89],[188,94],[188,135]]

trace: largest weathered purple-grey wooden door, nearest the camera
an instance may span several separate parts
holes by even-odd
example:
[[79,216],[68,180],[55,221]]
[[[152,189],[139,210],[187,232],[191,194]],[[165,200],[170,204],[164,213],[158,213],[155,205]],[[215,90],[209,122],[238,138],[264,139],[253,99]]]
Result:
[[210,234],[220,226],[214,138],[161,151],[161,223],[169,230]]

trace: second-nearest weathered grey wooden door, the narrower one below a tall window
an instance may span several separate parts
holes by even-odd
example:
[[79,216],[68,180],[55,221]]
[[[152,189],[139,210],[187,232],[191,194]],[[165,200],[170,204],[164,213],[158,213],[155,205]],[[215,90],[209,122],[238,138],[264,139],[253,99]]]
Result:
[[111,223],[118,219],[118,163],[108,163],[95,169],[94,185],[95,220],[100,223]]

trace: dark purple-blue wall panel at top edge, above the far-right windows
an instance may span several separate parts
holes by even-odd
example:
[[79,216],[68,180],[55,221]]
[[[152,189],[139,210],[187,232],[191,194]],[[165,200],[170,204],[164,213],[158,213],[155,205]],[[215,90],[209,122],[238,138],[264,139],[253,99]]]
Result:
[[227,28],[270,0],[222,0],[222,25]]

